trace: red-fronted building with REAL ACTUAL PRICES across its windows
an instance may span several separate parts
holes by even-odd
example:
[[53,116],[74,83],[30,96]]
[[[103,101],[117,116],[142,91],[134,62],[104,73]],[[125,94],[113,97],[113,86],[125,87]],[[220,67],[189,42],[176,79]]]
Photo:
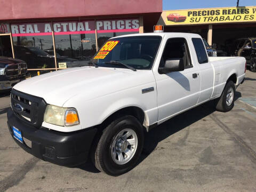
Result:
[[83,66],[108,38],[152,31],[162,14],[162,0],[13,0],[0,7],[0,55],[25,60],[32,76]]

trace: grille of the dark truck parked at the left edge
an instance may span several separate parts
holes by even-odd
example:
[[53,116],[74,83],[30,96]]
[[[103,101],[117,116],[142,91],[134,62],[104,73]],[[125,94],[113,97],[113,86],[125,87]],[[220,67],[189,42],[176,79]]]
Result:
[[14,63],[6,67],[6,76],[14,77],[18,75],[25,75],[27,73],[26,63]]

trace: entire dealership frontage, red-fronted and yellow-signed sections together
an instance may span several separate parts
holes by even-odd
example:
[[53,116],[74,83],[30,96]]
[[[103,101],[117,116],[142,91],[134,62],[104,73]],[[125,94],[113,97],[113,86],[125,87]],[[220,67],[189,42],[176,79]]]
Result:
[[0,2],[0,55],[25,60],[30,74],[86,65],[110,37],[153,32],[197,33],[234,55],[231,44],[256,37],[256,6],[162,11],[162,0],[25,0]]

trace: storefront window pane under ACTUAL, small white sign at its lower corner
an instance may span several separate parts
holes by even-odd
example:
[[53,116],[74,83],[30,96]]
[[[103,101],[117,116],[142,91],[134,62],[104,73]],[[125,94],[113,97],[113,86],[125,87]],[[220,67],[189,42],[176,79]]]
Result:
[[67,68],[87,65],[96,52],[95,34],[55,35],[57,67],[66,63]]

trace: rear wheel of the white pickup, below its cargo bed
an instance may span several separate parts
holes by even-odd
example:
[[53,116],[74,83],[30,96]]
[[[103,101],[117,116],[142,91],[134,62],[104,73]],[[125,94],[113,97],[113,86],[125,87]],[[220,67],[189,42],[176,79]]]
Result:
[[227,112],[234,107],[234,97],[235,97],[236,87],[233,81],[229,81],[219,100],[217,101],[216,109],[218,111]]

